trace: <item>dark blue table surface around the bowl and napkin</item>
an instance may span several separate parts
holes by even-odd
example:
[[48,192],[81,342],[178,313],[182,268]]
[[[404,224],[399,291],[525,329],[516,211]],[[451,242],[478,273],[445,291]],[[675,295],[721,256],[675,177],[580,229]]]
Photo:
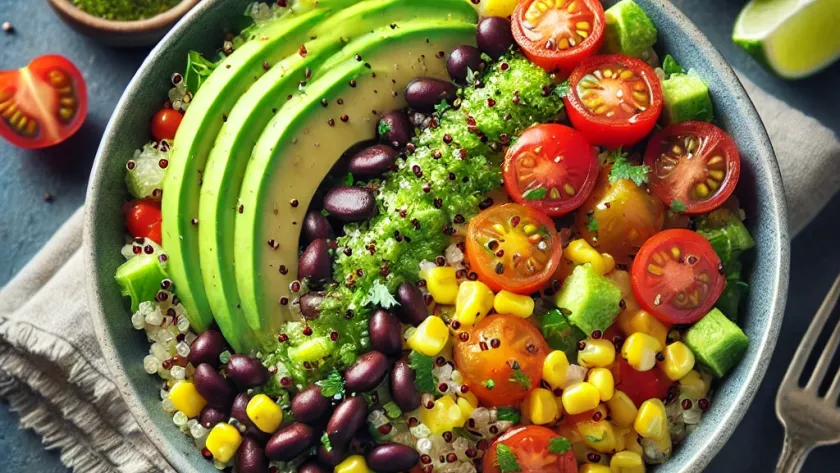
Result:
[[[731,64],[838,133],[840,92],[826,86],[837,83],[840,64],[807,80],[779,80],[729,40],[743,2],[674,3],[705,31]],[[63,54],[84,71],[91,103],[84,127],[63,145],[25,151],[0,141],[0,202],[4,204],[0,212],[0,284],[11,279],[84,202],[90,166],[108,118],[148,53],[148,49],[112,49],[79,36],[62,24],[44,1],[0,0],[0,22],[4,21],[15,27],[15,33],[0,32],[0,69],[21,67],[45,53]],[[51,202],[45,200],[45,194],[52,196]],[[838,217],[840,196],[794,240],[788,310],[770,369],[745,420],[707,471],[773,470],[783,435],[773,410],[776,388],[809,320],[840,272]],[[0,452],[5,452],[4,471],[68,471],[56,451],[44,450],[38,435],[18,429],[18,417],[7,405],[0,405]],[[804,471],[836,472],[838,458],[838,446],[818,449],[811,454]]]

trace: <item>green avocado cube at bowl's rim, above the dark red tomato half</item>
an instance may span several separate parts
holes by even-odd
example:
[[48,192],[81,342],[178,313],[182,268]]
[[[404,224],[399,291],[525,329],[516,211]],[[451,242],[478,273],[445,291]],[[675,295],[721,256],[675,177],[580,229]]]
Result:
[[665,125],[715,118],[709,88],[694,74],[671,74],[662,81],[662,100]]

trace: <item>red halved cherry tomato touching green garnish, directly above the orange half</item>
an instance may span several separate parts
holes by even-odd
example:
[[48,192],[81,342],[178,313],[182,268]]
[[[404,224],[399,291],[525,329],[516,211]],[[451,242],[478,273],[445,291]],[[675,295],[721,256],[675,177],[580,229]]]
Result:
[[595,147],[563,125],[533,126],[505,156],[505,189],[519,204],[561,217],[580,207],[598,178]]

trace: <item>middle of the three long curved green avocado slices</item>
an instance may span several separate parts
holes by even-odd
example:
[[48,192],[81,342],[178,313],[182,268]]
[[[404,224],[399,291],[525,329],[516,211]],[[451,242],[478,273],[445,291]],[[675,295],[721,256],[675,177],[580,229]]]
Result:
[[[475,10],[461,0],[431,0],[413,4],[406,0],[370,0],[337,12],[309,34],[315,39],[302,50],[278,62],[239,99],[222,126],[210,152],[203,174],[199,202],[199,258],[204,288],[219,326],[245,330],[248,324],[240,307],[236,277],[231,268],[235,261],[234,222],[239,205],[239,190],[257,139],[287,97],[297,94],[301,81],[321,75],[320,67],[328,59],[343,61],[357,52],[352,42],[362,34],[390,28],[415,18],[441,21],[477,21]],[[343,49],[342,49],[343,48]],[[288,205],[286,206],[288,207]],[[283,237],[280,245],[297,246],[297,239]],[[294,266],[294,265],[291,265]],[[222,322],[220,319],[224,319]],[[261,344],[271,342],[271,334],[260,332]],[[227,336],[227,334],[226,334]],[[232,335],[234,336],[234,335]]]

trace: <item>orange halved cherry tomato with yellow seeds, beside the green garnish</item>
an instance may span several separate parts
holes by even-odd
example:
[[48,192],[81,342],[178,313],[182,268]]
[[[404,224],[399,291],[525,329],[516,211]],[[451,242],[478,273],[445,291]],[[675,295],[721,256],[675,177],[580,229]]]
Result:
[[542,289],[562,256],[554,222],[519,204],[485,210],[467,230],[470,266],[494,291],[531,294]]

